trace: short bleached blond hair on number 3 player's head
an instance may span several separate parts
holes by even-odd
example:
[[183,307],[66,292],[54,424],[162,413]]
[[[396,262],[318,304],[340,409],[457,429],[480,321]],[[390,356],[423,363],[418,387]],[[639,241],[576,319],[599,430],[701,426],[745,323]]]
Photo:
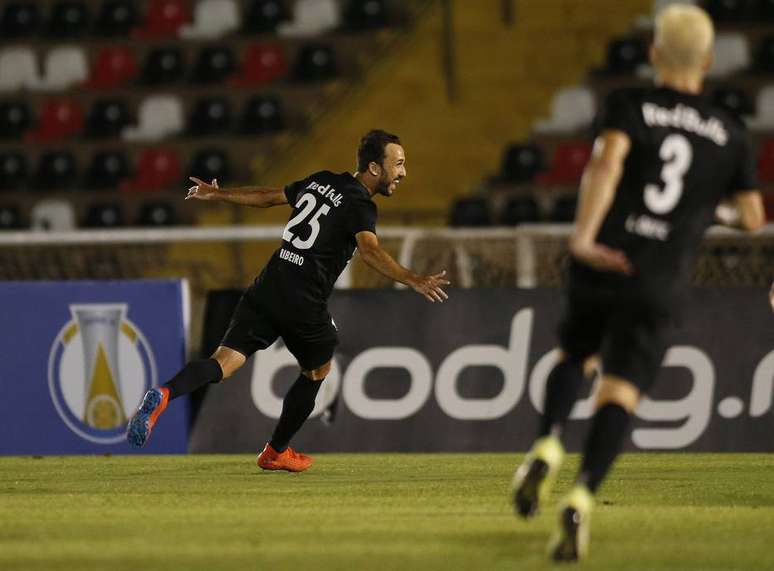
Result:
[[712,54],[715,28],[697,6],[673,4],[656,16],[653,45],[658,63],[674,70],[699,70]]

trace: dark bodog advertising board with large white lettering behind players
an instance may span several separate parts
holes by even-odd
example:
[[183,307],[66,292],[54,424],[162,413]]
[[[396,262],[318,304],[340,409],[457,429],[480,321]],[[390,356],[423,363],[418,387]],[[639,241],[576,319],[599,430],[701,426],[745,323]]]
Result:
[[[557,359],[561,292],[452,290],[450,297],[431,304],[409,291],[337,292],[330,304],[340,336],[335,366],[294,446],[527,449]],[[695,290],[675,321],[627,448],[774,451],[774,316],[766,292]],[[191,450],[260,450],[297,374],[281,341],[258,353],[207,391]],[[582,445],[593,390],[590,381],[573,410],[571,450]]]

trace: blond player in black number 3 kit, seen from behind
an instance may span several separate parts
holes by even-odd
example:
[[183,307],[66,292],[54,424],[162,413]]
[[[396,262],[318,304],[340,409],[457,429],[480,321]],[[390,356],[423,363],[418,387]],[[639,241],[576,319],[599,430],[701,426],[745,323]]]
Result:
[[548,378],[539,437],[512,488],[517,513],[534,515],[561,464],[562,429],[584,365],[599,353],[603,376],[580,472],[549,543],[557,561],[587,552],[593,496],[656,378],[665,329],[717,205],[728,200],[742,229],[764,223],[744,127],[700,95],[713,37],[699,8],[673,5],[658,15],[650,51],[656,86],[608,96],[581,180],[562,357]]

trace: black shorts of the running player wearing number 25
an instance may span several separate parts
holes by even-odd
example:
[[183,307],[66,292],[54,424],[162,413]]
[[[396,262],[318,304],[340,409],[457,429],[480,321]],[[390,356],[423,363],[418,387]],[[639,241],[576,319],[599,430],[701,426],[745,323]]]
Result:
[[287,311],[284,303],[259,295],[255,285],[242,294],[221,345],[249,357],[282,337],[302,369],[311,371],[331,360],[338,333],[325,309]]

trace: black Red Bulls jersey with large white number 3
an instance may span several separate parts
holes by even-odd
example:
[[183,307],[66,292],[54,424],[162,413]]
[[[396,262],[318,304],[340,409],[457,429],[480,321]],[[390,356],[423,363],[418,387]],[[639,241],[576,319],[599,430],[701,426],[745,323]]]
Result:
[[649,88],[613,91],[597,129],[631,140],[598,241],[624,251],[635,275],[607,279],[679,292],[718,202],[757,186],[744,125],[701,96]]

